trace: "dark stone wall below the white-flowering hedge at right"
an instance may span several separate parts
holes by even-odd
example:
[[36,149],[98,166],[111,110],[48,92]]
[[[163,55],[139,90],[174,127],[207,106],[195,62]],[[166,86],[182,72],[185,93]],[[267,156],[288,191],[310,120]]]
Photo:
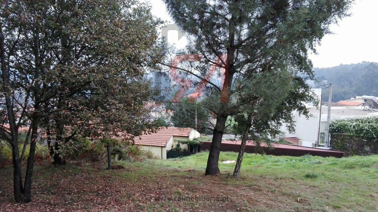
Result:
[[354,135],[332,133],[330,147],[345,151],[345,155],[378,154],[378,140],[365,139]]

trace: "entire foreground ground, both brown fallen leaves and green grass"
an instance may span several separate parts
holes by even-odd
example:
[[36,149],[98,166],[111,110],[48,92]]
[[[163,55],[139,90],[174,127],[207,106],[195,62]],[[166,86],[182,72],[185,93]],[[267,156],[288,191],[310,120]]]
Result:
[[[234,160],[222,153],[220,160]],[[177,160],[36,164],[33,201],[13,202],[12,169],[0,169],[0,211],[377,211],[377,156],[277,157],[246,154],[242,178],[204,176],[207,153]],[[321,163],[312,161],[321,160]],[[348,174],[349,173],[349,174]],[[339,177],[335,177],[339,176]],[[359,178],[356,178],[359,176]]]

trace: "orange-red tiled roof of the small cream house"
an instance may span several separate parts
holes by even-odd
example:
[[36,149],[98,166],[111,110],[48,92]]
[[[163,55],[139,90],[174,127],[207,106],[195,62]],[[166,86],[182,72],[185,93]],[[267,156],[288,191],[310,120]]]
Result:
[[189,137],[192,128],[160,128],[156,133],[135,138],[134,144],[147,146],[166,146],[172,136]]

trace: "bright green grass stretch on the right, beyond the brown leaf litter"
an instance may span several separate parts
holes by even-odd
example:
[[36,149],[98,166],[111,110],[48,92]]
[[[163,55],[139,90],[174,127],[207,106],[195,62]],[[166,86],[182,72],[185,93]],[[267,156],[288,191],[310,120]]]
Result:
[[[146,167],[146,172],[153,167],[204,173],[207,159],[208,152],[201,152],[184,158],[148,160],[140,162],[138,166]],[[224,164],[222,161],[236,160],[237,153],[221,152],[219,159],[221,173],[232,175],[234,164]],[[291,157],[245,154],[241,168],[242,179],[235,181],[229,177],[226,183],[250,187],[267,183],[263,186],[269,187],[270,182],[275,182],[275,185],[282,187],[271,186],[270,192],[292,196],[299,201],[301,198],[309,199],[312,201],[311,208],[320,211],[377,211],[377,164],[378,155],[324,158],[311,155]],[[186,173],[175,172],[175,175]]]

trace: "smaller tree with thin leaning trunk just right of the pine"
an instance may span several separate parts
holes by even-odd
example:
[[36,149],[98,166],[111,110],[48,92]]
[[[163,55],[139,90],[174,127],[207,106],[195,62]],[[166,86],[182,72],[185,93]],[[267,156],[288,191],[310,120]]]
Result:
[[292,112],[298,111],[308,117],[308,110],[304,103],[318,101],[305,81],[293,75],[291,71],[278,73],[265,72],[253,74],[253,77],[236,79],[237,86],[243,86],[237,92],[240,103],[246,99],[253,99],[239,108],[240,113],[234,115],[234,124],[231,125],[234,134],[241,136],[241,146],[234,169],[234,177],[240,177],[240,167],[243,160],[246,142],[253,140],[256,146],[260,143],[270,144],[270,139],[280,134],[280,126],[286,123],[289,131],[294,131]]

